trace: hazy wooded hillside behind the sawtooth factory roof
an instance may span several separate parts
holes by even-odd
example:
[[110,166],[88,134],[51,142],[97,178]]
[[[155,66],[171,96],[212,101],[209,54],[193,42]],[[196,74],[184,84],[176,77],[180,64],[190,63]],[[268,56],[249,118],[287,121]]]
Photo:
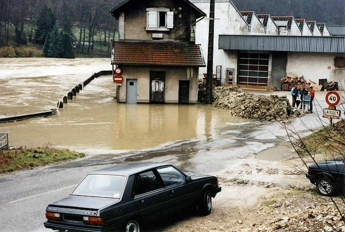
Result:
[[344,0],[232,0],[241,11],[294,16],[326,25],[345,25]]

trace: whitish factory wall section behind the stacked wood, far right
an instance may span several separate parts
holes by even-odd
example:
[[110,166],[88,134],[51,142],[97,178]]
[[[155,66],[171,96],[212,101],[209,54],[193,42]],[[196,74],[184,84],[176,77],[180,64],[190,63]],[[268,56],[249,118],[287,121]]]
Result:
[[[336,80],[345,87],[345,68],[336,68],[334,58],[345,54],[289,52],[286,72],[292,72],[308,81],[318,84],[319,79],[327,78],[327,82]],[[328,69],[330,67],[330,69]]]

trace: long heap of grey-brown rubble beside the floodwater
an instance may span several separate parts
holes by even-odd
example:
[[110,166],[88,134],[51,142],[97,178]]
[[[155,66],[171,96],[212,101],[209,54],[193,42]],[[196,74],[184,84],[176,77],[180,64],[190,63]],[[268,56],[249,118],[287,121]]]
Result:
[[246,93],[238,86],[214,88],[212,105],[219,109],[230,110],[234,116],[267,121],[285,120],[302,114],[291,107],[286,97]]

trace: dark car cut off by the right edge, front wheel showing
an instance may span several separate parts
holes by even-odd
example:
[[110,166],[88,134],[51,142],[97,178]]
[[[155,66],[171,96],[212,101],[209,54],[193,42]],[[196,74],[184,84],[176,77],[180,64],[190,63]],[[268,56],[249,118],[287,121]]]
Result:
[[345,181],[345,160],[334,159],[309,166],[307,178],[316,185],[317,192],[324,196],[342,194]]

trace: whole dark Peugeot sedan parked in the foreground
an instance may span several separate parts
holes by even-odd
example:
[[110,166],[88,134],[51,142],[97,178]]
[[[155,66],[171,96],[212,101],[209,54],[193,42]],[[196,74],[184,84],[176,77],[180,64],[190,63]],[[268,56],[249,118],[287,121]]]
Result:
[[141,223],[196,206],[211,212],[221,191],[209,175],[186,175],[173,165],[132,162],[89,173],[70,195],[46,208],[44,226],[57,231],[139,232]]

